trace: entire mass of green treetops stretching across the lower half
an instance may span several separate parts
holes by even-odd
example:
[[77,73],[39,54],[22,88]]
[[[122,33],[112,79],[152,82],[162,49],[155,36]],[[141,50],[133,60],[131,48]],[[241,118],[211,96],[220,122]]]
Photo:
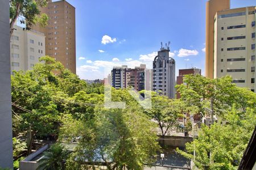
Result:
[[[177,86],[181,99],[152,92],[150,109],[141,107],[128,90],[110,88],[112,100],[125,101],[126,108],[107,109],[102,84],[87,84],[51,57],[40,61],[32,70],[14,71],[11,76],[14,137],[31,129],[33,138],[78,142],[67,158],[68,169],[98,162],[109,169],[142,169],[145,163],[155,161],[160,149],[156,129],[164,137],[179,125],[177,120],[184,113],[209,116],[210,100],[218,123],[201,125],[198,137],[187,144],[187,152],[177,151],[201,169],[234,169],[256,125],[256,95],[235,86],[230,76],[208,79],[187,75],[185,84]],[[188,121],[184,129],[189,131],[191,126]],[[52,165],[53,158],[48,158],[45,164]]]

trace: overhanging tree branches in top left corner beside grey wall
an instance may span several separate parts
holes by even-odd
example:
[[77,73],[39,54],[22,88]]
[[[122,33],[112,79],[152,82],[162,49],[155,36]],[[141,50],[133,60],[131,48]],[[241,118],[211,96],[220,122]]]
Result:
[[41,27],[47,25],[48,16],[40,15],[40,7],[47,5],[49,0],[10,0],[10,36],[13,34],[14,24],[20,17],[20,23],[26,24],[26,29],[39,23]]

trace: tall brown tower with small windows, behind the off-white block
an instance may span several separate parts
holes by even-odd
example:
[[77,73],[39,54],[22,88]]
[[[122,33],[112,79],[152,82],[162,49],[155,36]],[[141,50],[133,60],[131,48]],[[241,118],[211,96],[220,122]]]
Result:
[[76,74],[75,7],[65,0],[49,2],[41,13],[48,15],[48,25],[34,29],[46,35],[46,55],[60,61]]

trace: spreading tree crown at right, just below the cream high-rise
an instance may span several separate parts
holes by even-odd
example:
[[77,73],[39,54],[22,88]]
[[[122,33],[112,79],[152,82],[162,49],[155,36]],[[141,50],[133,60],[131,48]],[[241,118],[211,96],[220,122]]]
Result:
[[185,75],[183,82],[184,84],[176,86],[181,94],[181,100],[188,106],[197,108],[197,113],[206,115],[208,111],[205,108],[210,108],[210,100],[213,101],[213,113],[218,116],[223,115],[233,104],[236,104],[237,108],[247,107],[248,97],[240,92],[248,92],[236,87],[229,75],[217,79],[209,79],[201,75]]

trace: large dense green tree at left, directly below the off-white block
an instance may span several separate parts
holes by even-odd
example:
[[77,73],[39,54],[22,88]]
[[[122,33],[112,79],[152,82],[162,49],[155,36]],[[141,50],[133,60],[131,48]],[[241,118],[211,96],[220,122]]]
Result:
[[[40,61],[33,70],[14,72],[11,76],[13,115],[18,124],[14,127],[20,131],[31,128],[32,137],[51,135],[57,138],[61,116],[70,112],[66,107],[72,101],[69,98],[72,99],[75,92],[86,90],[86,83],[51,57],[41,57]],[[28,152],[30,150],[31,145]]]

